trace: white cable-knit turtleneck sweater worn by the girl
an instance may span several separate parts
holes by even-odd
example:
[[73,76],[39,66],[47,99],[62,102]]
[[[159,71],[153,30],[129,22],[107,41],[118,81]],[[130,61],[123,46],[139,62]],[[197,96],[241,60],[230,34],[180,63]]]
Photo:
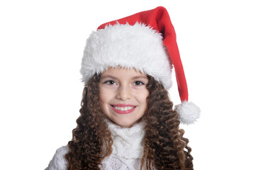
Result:
[[[106,170],[138,170],[140,169],[141,157],[143,157],[143,138],[145,136],[145,123],[136,123],[131,128],[121,128],[120,126],[108,123],[113,139],[112,153],[101,162],[101,169]],[[57,149],[54,157],[50,161],[48,170],[67,170],[67,161],[64,156],[68,152],[68,147]]]

